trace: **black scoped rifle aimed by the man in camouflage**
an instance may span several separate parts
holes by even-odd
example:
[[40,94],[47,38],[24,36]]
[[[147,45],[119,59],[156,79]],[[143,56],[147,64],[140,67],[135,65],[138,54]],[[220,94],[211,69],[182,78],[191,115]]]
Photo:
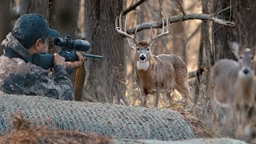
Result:
[[[66,35],[65,38],[55,38],[54,45],[61,46],[62,50],[58,52],[59,55],[65,58],[66,62],[78,61],[78,56],[76,51],[87,51],[90,49],[90,43],[82,40],[76,39],[72,40],[70,35]],[[100,55],[94,54],[82,54],[86,58],[103,58]],[[32,62],[41,66],[43,69],[48,70],[54,66],[54,54],[34,54],[32,56]]]

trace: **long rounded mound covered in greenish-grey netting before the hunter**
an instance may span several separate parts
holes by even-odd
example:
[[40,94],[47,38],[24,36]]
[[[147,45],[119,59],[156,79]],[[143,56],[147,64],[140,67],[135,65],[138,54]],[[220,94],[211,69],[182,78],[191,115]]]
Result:
[[15,111],[38,125],[78,130],[109,138],[182,140],[196,138],[190,124],[174,110],[110,103],[70,102],[34,96],[0,96],[0,135],[12,129]]

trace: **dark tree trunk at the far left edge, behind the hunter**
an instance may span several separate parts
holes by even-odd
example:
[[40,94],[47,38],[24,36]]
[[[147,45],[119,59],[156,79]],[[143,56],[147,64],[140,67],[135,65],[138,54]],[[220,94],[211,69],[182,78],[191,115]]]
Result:
[[[6,34],[11,31],[10,25],[10,1],[2,0],[0,4],[0,42],[6,38]],[[0,55],[3,54],[3,47],[0,45]]]

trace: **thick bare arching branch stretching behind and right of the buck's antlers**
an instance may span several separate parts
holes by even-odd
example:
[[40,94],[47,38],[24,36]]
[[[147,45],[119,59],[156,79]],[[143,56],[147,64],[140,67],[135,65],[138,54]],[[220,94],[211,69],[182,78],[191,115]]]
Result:
[[[227,27],[231,27],[231,28],[234,28],[234,26],[235,26],[234,22],[225,21],[223,19],[214,17],[213,15],[210,15],[210,14],[175,15],[175,16],[168,18],[168,21],[170,23],[174,23],[174,22],[180,22],[180,21],[186,21],[186,20],[192,20],[192,19],[201,19],[201,20],[206,20],[206,21],[212,21],[212,22],[218,23],[219,25],[227,26]],[[166,25],[166,21],[164,21],[164,22]],[[152,28],[161,28],[162,21],[145,22],[145,23],[139,24],[138,26],[134,26],[134,27],[130,28],[129,30],[127,30],[127,33],[134,34],[136,27],[138,27],[138,31],[140,31],[140,30],[150,29],[151,26],[152,26]]]

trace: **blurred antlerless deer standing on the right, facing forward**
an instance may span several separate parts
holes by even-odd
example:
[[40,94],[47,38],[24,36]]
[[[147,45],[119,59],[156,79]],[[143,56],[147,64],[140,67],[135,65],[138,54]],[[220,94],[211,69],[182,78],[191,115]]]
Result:
[[228,108],[225,131],[230,130],[230,118],[234,116],[238,138],[254,102],[254,50],[240,49],[236,42],[230,42],[230,50],[238,58],[238,62],[232,59],[218,60],[210,73],[210,102],[213,108],[211,122],[216,129],[218,110],[220,107]]

